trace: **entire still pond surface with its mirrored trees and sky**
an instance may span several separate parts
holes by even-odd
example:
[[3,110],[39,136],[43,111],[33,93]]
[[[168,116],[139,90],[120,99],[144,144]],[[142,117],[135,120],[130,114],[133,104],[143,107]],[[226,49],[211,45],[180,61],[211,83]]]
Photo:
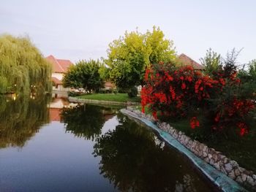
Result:
[[0,97],[0,191],[211,191],[116,107]]

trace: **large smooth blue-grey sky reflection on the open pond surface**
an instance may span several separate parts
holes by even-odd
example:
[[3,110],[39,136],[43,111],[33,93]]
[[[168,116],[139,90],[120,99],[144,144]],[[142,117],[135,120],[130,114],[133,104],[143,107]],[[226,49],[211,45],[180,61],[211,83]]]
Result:
[[113,184],[99,174],[100,158],[91,154],[93,145],[90,140],[65,132],[63,123],[50,123],[22,149],[0,150],[1,189],[116,191]]

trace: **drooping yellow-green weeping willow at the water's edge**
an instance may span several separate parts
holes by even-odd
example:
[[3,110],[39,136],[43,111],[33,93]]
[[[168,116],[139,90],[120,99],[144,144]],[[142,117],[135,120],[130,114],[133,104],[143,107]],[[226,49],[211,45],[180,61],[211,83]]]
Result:
[[0,93],[51,90],[51,67],[27,37],[0,36]]

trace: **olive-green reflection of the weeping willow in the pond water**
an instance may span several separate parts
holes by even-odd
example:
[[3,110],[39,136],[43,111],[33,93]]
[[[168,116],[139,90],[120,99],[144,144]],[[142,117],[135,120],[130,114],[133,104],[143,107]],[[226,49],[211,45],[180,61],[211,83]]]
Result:
[[0,147],[23,147],[49,122],[48,96],[0,96]]

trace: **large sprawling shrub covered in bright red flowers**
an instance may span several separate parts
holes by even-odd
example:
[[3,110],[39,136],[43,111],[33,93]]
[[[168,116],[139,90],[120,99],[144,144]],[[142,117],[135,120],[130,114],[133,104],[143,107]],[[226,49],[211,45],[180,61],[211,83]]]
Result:
[[200,123],[195,115],[201,109],[211,119],[214,130],[236,126],[241,136],[248,132],[244,120],[255,103],[238,96],[240,80],[236,71],[219,70],[209,77],[192,66],[155,64],[146,69],[145,82],[141,91],[142,112],[147,106],[156,119],[157,112],[170,118],[194,116],[190,126],[196,128]]

